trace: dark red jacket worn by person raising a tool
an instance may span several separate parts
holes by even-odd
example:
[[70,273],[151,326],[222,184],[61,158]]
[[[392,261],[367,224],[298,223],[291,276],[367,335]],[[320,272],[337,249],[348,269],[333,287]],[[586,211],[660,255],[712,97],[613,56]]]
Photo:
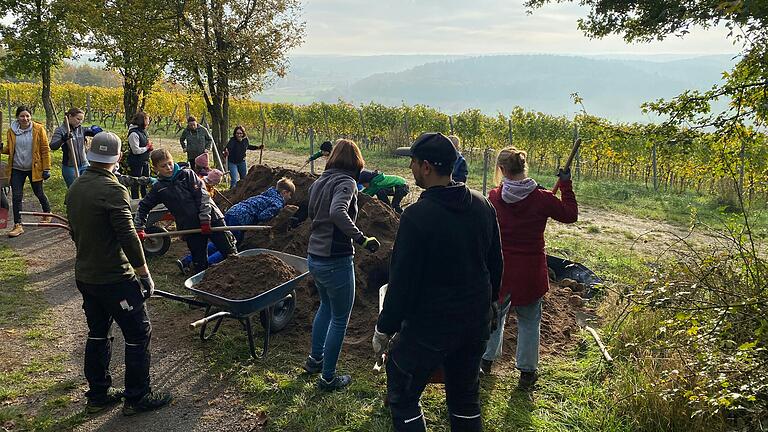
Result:
[[562,201],[549,190],[535,189],[515,203],[501,198],[501,186],[488,194],[488,199],[496,208],[504,256],[500,301],[511,295],[512,306],[523,306],[533,303],[549,290],[547,256],[544,253],[547,219],[573,223],[579,215],[570,180],[560,181],[560,192]]

